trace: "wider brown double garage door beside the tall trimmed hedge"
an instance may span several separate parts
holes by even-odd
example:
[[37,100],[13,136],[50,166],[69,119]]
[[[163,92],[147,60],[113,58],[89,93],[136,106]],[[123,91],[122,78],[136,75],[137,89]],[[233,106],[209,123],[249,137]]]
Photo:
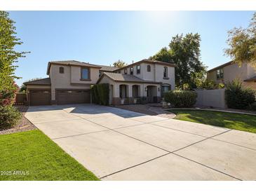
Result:
[[90,90],[57,90],[57,104],[90,103]]

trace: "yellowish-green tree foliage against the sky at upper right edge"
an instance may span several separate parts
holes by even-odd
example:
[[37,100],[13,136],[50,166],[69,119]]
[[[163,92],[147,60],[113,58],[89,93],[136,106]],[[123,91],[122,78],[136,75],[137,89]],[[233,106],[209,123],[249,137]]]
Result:
[[228,34],[229,48],[224,50],[225,54],[240,66],[246,62],[252,67],[256,67],[256,13],[253,14],[247,28],[235,27]]

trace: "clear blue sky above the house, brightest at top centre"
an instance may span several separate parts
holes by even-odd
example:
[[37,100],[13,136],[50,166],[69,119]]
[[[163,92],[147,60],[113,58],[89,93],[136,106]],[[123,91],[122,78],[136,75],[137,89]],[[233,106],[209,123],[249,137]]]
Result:
[[201,34],[201,60],[208,69],[228,62],[227,31],[247,27],[253,11],[11,11],[17,50],[30,51],[19,60],[18,85],[47,77],[51,60],[92,64],[131,63],[168,46],[172,36]]

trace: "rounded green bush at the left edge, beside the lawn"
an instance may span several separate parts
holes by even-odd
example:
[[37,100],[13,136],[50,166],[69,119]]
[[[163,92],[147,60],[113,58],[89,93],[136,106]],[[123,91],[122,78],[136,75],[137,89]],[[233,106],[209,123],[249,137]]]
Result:
[[13,106],[0,106],[0,130],[7,130],[15,126],[22,114]]

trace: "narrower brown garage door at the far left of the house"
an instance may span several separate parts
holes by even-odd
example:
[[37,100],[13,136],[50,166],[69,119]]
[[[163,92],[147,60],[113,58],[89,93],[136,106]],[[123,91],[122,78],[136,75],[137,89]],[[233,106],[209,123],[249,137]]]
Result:
[[50,104],[50,90],[29,90],[30,105]]

